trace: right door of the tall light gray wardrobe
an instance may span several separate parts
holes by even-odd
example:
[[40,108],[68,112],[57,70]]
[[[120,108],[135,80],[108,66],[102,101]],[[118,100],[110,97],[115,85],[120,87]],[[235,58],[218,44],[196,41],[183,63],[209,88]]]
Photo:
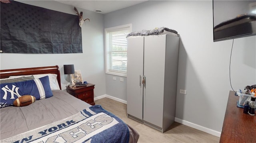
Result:
[[166,35],[144,38],[143,120],[162,128]]

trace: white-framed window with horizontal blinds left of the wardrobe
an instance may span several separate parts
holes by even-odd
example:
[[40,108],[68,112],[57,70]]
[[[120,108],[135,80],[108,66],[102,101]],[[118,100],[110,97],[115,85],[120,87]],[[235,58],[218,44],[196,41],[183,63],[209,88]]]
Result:
[[106,73],[126,76],[127,73],[127,40],[132,25],[122,25],[105,29]]

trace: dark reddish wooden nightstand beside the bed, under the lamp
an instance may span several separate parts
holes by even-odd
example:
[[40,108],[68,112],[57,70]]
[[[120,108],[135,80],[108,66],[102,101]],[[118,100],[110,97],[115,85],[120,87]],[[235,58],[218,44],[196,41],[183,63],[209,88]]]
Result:
[[66,86],[66,90],[72,96],[87,102],[88,104],[95,105],[94,103],[94,84],[88,83],[86,86]]

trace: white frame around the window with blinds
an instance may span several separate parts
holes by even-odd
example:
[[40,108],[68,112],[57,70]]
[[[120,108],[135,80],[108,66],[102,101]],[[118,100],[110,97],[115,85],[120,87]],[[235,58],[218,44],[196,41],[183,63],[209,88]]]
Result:
[[[126,69],[126,73],[122,73],[122,72],[113,72],[113,71],[109,71],[108,69],[108,63],[109,63],[109,49],[107,48],[107,33],[109,32],[113,32],[113,31],[119,31],[118,29],[122,30],[122,29],[130,29],[130,32],[132,32],[132,24],[125,24],[125,25],[120,25],[120,26],[115,26],[115,27],[109,27],[109,28],[105,28],[104,29],[104,40],[105,40],[105,71],[106,74],[112,74],[112,75],[117,75],[117,76],[124,76],[127,77],[127,69]],[[127,54],[127,47],[126,47],[126,54]]]

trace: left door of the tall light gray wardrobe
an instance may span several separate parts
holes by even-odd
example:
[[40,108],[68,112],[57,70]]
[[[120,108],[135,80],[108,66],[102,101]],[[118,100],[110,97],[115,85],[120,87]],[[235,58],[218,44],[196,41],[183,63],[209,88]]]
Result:
[[127,114],[143,119],[144,37],[127,38]]

